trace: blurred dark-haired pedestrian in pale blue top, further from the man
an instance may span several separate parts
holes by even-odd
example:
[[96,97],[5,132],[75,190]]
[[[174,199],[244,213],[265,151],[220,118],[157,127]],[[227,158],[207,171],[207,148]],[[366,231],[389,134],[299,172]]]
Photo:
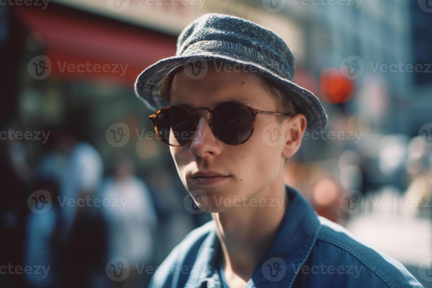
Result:
[[58,148],[66,161],[60,176],[60,257],[66,287],[90,287],[90,278],[102,255],[103,227],[92,201],[102,182],[102,156],[86,139],[88,111],[66,117],[58,137]]

